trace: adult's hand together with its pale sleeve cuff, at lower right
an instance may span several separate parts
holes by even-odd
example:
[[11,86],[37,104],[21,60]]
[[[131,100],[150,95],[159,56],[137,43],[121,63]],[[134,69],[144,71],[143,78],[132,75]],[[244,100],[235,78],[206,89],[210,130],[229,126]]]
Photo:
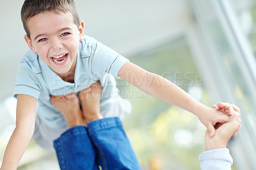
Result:
[[[217,107],[218,105],[218,107]],[[205,132],[205,151],[201,153],[201,169],[231,169],[233,159],[226,148],[227,143],[236,135],[241,128],[240,111],[236,105],[228,103],[218,103],[213,105],[212,109],[221,111],[228,116],[228,121],[214,124],[215,135],[212,137],[209,128]]]

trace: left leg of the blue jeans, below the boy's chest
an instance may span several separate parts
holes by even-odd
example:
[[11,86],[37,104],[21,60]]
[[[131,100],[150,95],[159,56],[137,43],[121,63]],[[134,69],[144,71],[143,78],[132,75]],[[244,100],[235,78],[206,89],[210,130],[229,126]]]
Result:
[[86,127],[68,129],[54,141],[61,170],[99,169],[96,153]]

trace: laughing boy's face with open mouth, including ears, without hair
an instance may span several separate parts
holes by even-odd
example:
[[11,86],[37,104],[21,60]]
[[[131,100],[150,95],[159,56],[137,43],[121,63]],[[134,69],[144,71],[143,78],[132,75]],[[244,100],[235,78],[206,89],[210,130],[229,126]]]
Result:
[[84,25],[79,28],[70,13],[43,12],[28,19],[30,37],[25,36],[29,48],[54,72],[73,72],[79,41],[83,40]]

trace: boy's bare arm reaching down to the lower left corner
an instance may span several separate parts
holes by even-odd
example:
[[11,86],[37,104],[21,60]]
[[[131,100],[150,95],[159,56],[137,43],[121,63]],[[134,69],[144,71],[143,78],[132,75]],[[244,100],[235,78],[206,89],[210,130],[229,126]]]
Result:
[[17,169],[35,129],[36,98],[17,95],[16,128],[4,152],[3,169]]

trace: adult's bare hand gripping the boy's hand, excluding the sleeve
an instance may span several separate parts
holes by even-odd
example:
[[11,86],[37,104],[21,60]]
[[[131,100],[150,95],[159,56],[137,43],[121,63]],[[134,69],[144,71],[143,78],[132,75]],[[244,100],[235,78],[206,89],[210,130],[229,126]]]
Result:
[[[213,150],[218,148],[226,148],[230,137],[241,127],[240,112],[236,111],[238,107],[228,104],[218,104],[219,109],[225,109],[230,119],[227,123],[216,128],[214,137],[210,137],[209,130],[205,133],[205,150]],[[216,105],[214,105],[216,108]],[[234,109],[235,108],[235,109]],[[237,133],[237,132],[236,132]]]

